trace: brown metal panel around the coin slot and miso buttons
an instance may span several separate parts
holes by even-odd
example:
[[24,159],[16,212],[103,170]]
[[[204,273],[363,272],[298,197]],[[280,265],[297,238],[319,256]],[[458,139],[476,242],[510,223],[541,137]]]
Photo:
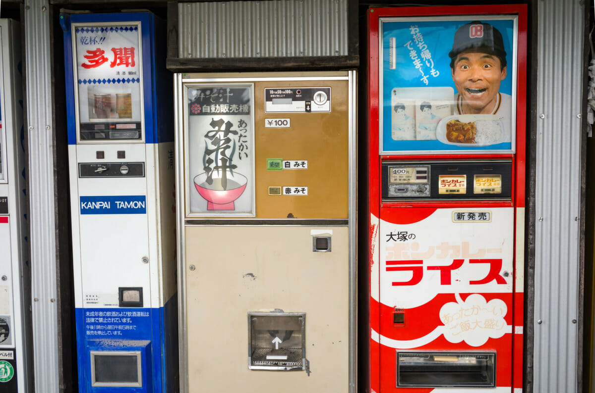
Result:
[[[265,113],[265,88],[330,87],[330,113]],[[345,81],[255,83],[255,173],[258,218],[347,218],[348,86]],[[290,119],[290,128],[265,128]],[[308,160],[308,169],[267,170],[267,159]],[[270,186],[306,186],[307,196],[268,195]]]

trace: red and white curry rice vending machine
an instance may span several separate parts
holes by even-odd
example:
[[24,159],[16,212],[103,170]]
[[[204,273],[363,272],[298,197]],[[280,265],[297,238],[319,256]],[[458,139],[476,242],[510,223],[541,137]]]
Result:
[[527,8],[374,8],[370,391],[522,391]]

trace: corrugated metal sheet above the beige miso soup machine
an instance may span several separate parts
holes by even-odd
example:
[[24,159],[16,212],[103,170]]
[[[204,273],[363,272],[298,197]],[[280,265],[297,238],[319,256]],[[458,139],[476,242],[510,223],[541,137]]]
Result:
[[347,0],[178,4],[180,58],[347,55]]

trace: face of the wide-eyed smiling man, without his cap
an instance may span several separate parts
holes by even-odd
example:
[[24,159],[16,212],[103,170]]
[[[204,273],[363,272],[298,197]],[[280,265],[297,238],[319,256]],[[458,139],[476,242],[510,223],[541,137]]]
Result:
[[462,113],[492,113],[500,81],[506,78],[506,67],[501,67],[500,59],[488,53],[462,52],[451,71],[462,100]]

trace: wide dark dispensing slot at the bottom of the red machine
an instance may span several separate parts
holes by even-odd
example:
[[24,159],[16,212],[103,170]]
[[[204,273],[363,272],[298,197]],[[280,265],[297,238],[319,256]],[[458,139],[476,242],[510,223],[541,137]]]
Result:
[[495,353],[397,352],[397,387],[496,386]]

